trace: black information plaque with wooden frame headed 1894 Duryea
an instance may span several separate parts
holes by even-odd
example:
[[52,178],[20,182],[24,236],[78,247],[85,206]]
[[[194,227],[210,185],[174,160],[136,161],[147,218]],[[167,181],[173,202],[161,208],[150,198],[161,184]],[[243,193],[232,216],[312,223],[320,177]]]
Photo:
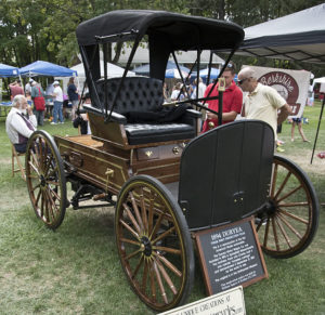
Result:
[[268,277],[253,218],[195,234],[209,296]]

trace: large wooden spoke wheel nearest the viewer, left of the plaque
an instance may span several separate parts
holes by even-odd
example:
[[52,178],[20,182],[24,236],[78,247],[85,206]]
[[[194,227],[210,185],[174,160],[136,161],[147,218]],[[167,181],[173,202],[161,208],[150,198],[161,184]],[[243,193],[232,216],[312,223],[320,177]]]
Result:
[[169,191],[147,175],[129,180],[117,200],[115,232],[122,268],[140,299],[157,312],[183,304],[194,280],[194,254]]

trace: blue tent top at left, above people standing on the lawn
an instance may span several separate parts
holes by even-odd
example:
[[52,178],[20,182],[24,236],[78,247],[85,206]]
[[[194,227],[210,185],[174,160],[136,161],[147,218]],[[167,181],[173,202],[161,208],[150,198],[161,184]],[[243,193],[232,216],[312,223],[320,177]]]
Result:
[[46,76],[46,77],[73,77],[77,76],[76,70],[58,66],[49,62],[37,61],[20,69],[23,77]]

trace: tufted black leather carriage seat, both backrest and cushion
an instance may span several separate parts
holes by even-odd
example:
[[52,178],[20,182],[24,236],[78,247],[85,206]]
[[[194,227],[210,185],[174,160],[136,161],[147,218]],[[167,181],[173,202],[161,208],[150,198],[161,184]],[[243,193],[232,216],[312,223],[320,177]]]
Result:
[[[120,78],[104,79],[96,82],[96,90],[101,104],[92,103],[93,107],[102,108],[107,87],[108,109],[112,108]],[[162,82],[147,77],[128,77],[121,87],[114,111],[128,116],[130,111],[158,111],[164,103]],[[190,110],[191,111],[191,110]],[[196,135],[196,119],[199,113],[184,115],[182,119],[168,123],[125,123],[130,145],[152,142],[192,139]]]

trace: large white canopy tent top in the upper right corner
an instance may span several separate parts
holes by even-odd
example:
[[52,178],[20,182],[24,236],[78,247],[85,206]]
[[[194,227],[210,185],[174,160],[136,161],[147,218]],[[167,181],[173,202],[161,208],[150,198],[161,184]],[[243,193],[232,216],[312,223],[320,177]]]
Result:
[[236,54],[325,63],[325,3],[245,28]]

